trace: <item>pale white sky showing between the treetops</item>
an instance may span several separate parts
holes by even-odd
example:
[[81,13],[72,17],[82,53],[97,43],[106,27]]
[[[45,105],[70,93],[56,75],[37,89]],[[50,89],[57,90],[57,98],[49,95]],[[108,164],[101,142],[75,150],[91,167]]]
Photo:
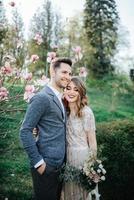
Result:
[[[43,0],[14,0],[16,4],[21,8],[22,17],[28,29],[30,19],[35,10],[39,7]],[[69,18],[73,16],[77,11],[82,11],[84,8],[85,0],[51,0],[52,5],[56,10],[59,10],[63,18]],[[115,0],[117,4],[117,10],[119,12],[121,24],[129,32],[127,35],[128,42],[130,43],[129,49],[120,51],[120,61],[122,57],[134,57],[134,0]],[[9,6],[10,0],[4,0],[5,6],[12,9]],[[124,62],[124,61],[123,61]],[[127,65],[130,65],[129,62]],[[127,67],[128,69],[128,67]]]

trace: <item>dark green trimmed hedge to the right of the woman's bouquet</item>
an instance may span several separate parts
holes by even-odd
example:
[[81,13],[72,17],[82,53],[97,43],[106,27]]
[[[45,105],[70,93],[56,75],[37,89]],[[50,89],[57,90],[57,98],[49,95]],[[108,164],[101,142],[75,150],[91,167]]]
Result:
[[106,181],[100,185],[102,199],[133,199],[134,123],[115,121],[97,126],[99,156],[107,170]]

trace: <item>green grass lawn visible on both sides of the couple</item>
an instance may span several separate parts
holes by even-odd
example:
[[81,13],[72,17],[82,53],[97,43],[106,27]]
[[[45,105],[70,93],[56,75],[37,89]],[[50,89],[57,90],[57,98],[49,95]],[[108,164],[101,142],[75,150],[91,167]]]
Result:
[[[116,82],[120,87],[112,86]],[[121,92],[121,89],[125,92]],[[14,86],[12,96],[21,95],[22,91],[20,86]],[[124,86],[119,80],[90,80],[87,83],[87,91],[96,123],[134,119],[134,95],[131,85]],[[23,95],[0,104],[0,199],[32,199],[29,163],[19,141],[19,128],[25,110]]]

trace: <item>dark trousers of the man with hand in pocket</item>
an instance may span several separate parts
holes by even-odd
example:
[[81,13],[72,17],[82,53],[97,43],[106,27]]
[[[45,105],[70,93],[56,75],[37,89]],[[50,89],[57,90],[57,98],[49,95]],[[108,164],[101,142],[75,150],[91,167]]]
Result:
[[36,200],[60,200],[62,183],[59,180],[60,168],[46,165],[42,175],[32,169],[33,187]]

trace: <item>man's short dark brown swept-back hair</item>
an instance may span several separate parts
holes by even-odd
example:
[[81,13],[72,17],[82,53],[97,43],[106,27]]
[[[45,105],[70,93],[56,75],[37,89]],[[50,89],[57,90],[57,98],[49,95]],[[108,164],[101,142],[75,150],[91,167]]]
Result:
[[70,67],[72,66],[72,60],[70,58],[56,58],[52,61],[51,66],[55,70],[60,67],[61,63],[68,64]]

